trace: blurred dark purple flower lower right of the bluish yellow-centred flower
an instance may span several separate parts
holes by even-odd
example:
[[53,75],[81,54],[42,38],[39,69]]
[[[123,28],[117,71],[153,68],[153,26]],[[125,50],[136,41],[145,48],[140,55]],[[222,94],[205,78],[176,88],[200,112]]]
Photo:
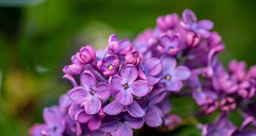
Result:
[[196,100],[198,105],[207,104],[207,99],[216,100],[218,98],[215,92],[202,88],[198,75],[194,73],[191,74],[190,78],[188,79],[188,82],[192,87],[192,96]]

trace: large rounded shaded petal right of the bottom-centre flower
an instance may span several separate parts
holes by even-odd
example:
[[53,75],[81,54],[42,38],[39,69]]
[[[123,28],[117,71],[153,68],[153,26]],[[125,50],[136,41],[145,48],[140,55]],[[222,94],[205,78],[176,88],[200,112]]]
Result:
[[163,124],[162,111],[155,105],[151,105],[147,109],[147,113],[144,116],[145,122],[148,126],[154,128]]

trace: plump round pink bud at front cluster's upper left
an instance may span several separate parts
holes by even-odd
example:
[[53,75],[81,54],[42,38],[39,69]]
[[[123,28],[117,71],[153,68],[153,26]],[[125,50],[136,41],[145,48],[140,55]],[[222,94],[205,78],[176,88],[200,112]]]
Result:
[[92,46],[87,45],[86,47],[82,47],[80,52],[76,54],[78,62],[82,64],[89,64],[96,57],[96,52]]

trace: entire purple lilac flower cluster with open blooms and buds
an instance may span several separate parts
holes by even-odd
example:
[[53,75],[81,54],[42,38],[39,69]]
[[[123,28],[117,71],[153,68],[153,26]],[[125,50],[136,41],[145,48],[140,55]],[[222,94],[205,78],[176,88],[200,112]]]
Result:
[[[231,61],[228,70],[217,60],[225,49],[210,20],[197,21],[189,9],[157,18],[157,25],[134,42],[112,34],[105,50],[82,47],[63,68],[73,88],[59,105],[45,108],[45,124],[33,136],[132,136],[145,125],[171,130],[182,123],[170,114],[170,94],[191,95],[201,107],[196,116],[220,111],[215,123],[199,124],[203,136],[256,135],[256,66]],[[80,77],[80,85],[74,79]],[[239,109],[240,128],[228,120]]]

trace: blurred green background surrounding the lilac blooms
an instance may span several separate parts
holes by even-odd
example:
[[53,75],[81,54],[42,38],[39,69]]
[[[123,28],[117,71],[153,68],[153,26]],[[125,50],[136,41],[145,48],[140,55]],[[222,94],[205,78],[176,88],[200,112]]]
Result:
[[[72,87],[62,68],[81,46],[103,49],[113,33],[133,40],[158,16],[181,15],[185,8],[214,21],[226,45],[219,56],[225,66],[232,58],[256,64],[255,6],[238,0],[0,0],[0,135],[26,136],[33,123],[43,123],[43,108]],[[191,97],[171,101],[184,122],[166,135],[200,135],[195,124],[217,115],[195,119],[199,107]],[[237,114],[230,118],[240,126]]]

